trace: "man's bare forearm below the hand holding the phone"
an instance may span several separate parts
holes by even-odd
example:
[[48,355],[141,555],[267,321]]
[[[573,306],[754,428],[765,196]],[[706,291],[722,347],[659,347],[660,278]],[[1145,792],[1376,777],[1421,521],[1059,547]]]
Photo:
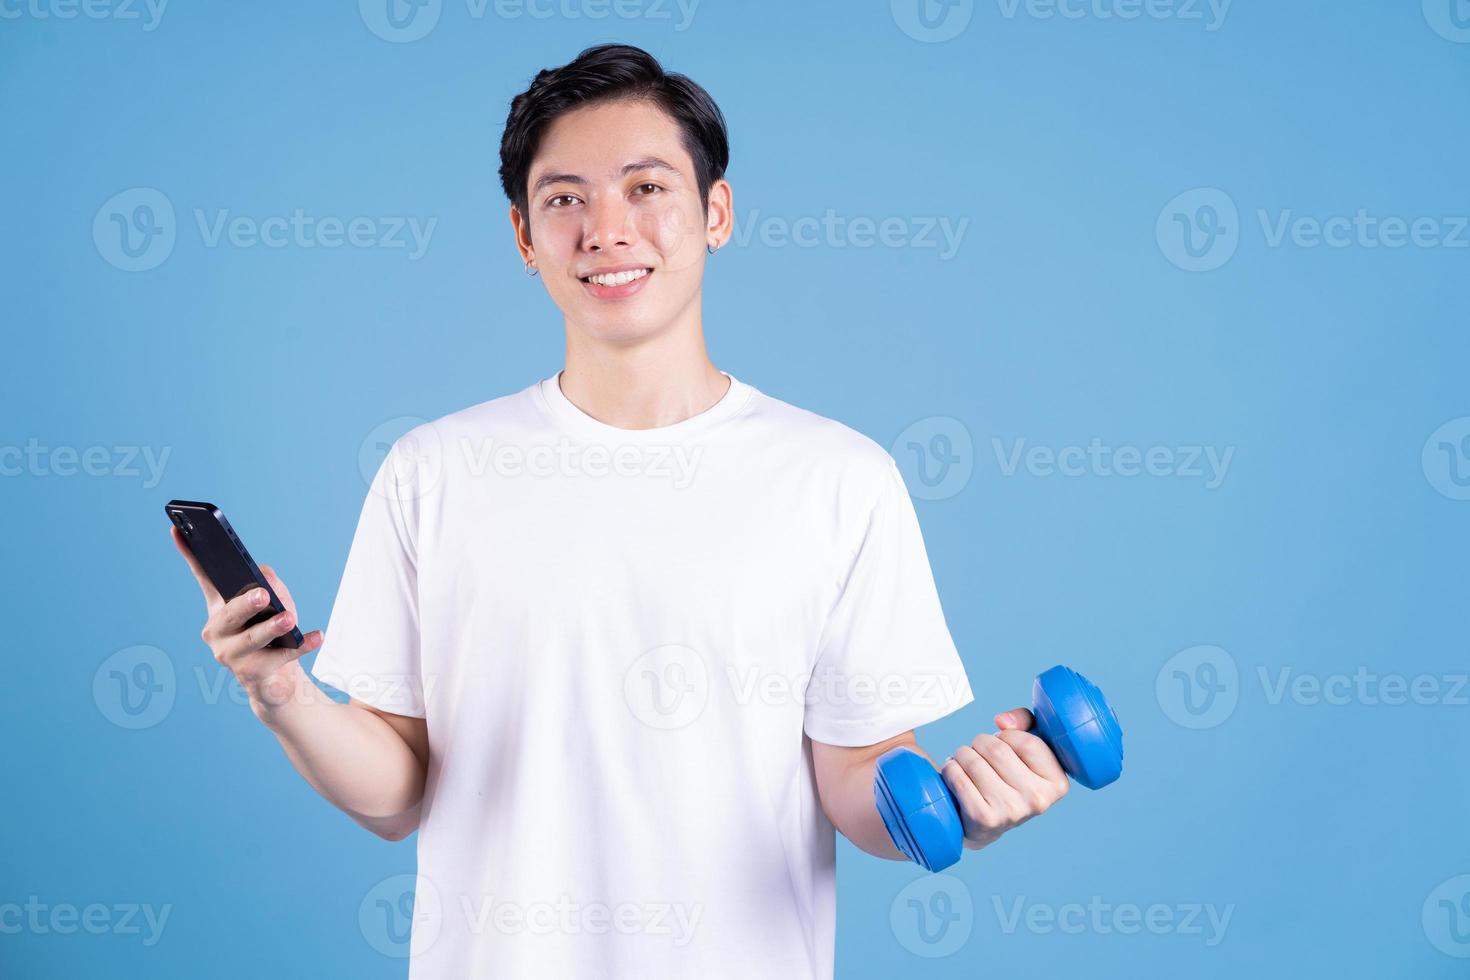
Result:
[[419,826],[425,764],[384,718],[338,704],[300,679],[278,705],[253,705],[301,777],[328,802],[388,840]]

